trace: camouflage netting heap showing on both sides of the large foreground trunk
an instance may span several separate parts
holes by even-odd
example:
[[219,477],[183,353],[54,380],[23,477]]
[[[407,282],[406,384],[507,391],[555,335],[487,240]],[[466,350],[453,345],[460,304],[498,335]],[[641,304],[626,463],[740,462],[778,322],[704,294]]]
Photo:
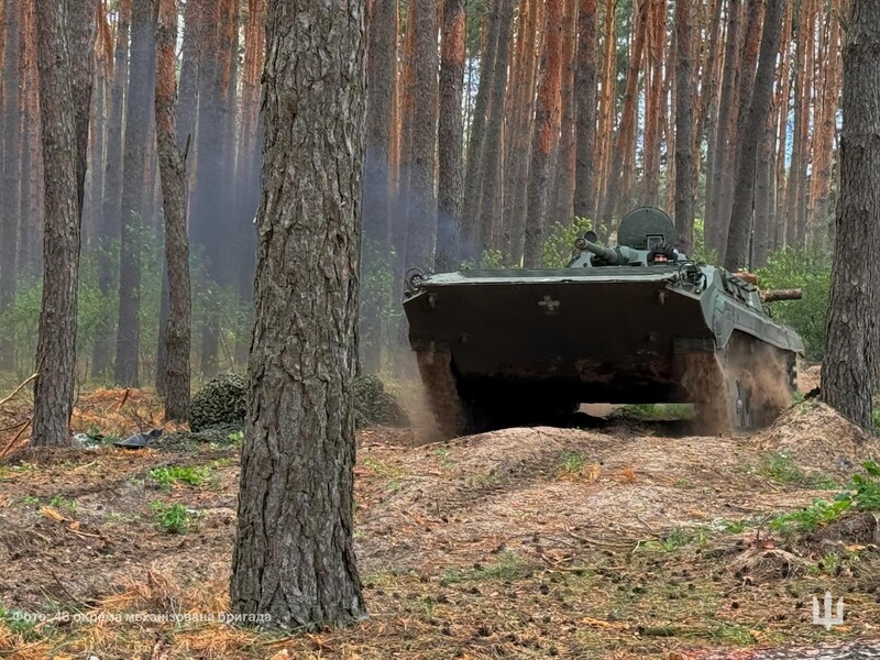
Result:
[[[193,397],[189,407],[189,428],[198,432],[219,428],[226,435],[244,426],[246,382],[242,376],[224,374],[206,383]],[[359,429],[374,425],[407,426],[406,414],[395,398],[385,392],[377,376],[354,380],[354,425]]]

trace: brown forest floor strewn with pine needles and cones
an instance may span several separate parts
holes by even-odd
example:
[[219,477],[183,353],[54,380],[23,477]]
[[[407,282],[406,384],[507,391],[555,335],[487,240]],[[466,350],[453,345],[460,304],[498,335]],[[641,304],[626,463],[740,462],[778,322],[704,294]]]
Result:
[[[124,436],[158,415],[146,393],[97,391],[75,430]],[[0,409],[0,450],[26,417]],[[878,453],[833,410],[809,400],[749,437],[619,411],[590,427],[360,432],[371,616],[292,637],[219,620],[238,436],[19,453],[0,464],[0,657],[683,660],[880,637],[878,518],[803,531],[789,522],[804,514],[783,516],[834,501]],[[812,622],[826,590],[846,598],[831,630]]]

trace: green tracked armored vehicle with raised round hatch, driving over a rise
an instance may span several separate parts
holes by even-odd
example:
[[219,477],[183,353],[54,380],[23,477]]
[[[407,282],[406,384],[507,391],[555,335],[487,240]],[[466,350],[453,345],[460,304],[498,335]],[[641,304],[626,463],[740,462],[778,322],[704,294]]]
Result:
[[409,342],[440,430],[540,421],[580,404],[692,403],[705,432],[770,424],[791,402],[801,338],[754,277],[696,263],[642,207],[617,245],[579,238],[564,268],[407,273]]

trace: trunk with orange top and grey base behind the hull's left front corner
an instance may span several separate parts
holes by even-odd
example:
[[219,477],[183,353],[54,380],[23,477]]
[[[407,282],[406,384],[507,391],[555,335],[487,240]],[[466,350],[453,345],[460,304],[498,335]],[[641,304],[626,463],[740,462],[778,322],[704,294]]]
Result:
[[[392,13],[387,19],[387,31],[394,37],[396,35],[392,32],[394,30],[393,19],[394,15]],[[443,3],[442,45],[440,51],[439,182],[437,195],[437,257],[435,260],[435,270],[438,273],[454,271],[459,265],[463,150],[461,101],[464,87],[465,48],[464,0],[446,0]],[[391,84],[391,81],[389,79],[388,82]],[[391,94],[387,97],[391,98]],[[391,106],[388,107],[388,119],[391,120]],[[387,179],[387,174],[385,174],[385,178]],[[387,185],[383,187],[383,190],[385,189],[387,189]]]

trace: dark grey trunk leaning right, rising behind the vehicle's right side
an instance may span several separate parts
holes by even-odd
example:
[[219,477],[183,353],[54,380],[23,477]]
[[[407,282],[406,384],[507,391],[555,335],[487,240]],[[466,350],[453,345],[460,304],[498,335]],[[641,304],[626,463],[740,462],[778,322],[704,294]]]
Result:
[[749,234],[752,228],[755,201],[755,164],[758,161],[758,145],[767,129],[770,102],[773,98],[773,78],[777,72],[782,19],[787,0],[768,0],[767,16],[761,37],[761,55],[755,77],[755,91],[751,95],[748,119],[739,136],[737,157],[736,189],[727,233],[727,250],[724,266],[728,271],[747,265]]

